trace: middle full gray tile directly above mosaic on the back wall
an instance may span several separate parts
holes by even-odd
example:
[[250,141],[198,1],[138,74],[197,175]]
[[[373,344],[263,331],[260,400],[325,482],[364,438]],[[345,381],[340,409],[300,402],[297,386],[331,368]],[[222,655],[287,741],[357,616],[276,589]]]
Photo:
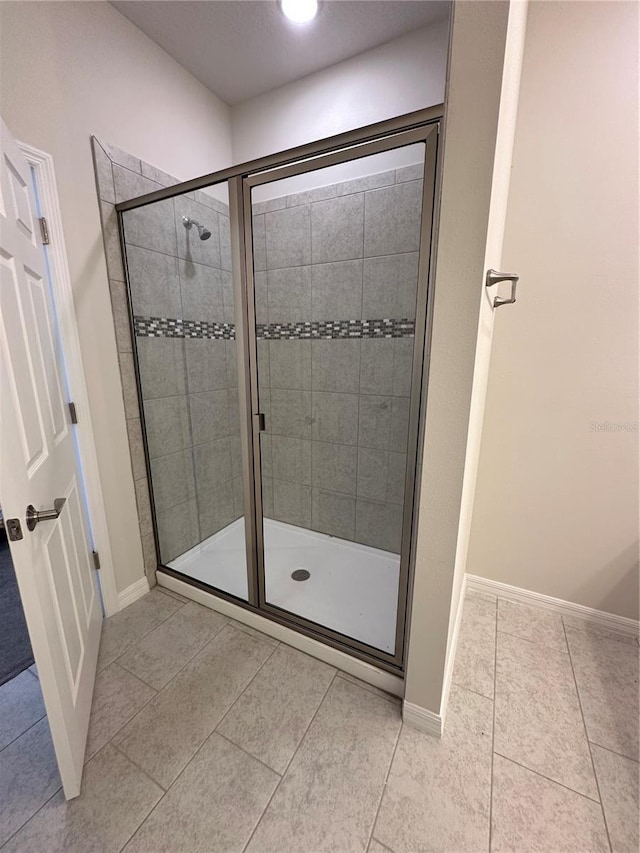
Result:
[[362,260],[314,264],[311,267],[311,303],[312,320],[359,319],[362,316]]

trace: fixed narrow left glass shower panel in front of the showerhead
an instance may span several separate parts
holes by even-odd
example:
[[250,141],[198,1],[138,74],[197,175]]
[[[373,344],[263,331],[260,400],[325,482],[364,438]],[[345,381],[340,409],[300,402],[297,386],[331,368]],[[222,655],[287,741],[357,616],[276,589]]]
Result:
[[[133,177],[140,191],[153,188]],[[228,196],[224,181],[128,210],[122,225],[159,562],[246,601],[236,357],[244,320]],[[144,460],[136,462],[143,500]]]

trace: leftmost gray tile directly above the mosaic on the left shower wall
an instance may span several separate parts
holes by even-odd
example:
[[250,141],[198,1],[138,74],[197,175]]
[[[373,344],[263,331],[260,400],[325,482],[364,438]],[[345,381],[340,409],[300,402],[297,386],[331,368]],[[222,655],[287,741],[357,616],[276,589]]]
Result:
[[142,317],[182,317],[175,257],[127,246],[133,313]]

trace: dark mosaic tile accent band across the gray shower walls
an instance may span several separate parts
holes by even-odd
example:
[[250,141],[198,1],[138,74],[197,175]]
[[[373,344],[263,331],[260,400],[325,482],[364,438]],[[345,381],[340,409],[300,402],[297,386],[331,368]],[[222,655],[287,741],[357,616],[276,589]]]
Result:
[[[236,337],[233,323],[207,320],[179,320],[168,317],[134,317],[138,338],[206,338],[232,341]],[[358,338],[412,338],[415,321],[402,320],[300,320],[295,323],[258,323],[258,340],[345,340]]]

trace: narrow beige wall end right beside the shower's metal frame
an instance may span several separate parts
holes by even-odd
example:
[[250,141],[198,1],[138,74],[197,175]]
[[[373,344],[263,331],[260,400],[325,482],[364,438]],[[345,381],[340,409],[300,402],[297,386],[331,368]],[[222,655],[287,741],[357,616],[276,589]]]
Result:
[[433,714],[443,711],[451,603],[459,597],[455,567],[464,538],[463,481],[508,18],[509,5],[490,0],[456,3],[453,12],[405,694]]

